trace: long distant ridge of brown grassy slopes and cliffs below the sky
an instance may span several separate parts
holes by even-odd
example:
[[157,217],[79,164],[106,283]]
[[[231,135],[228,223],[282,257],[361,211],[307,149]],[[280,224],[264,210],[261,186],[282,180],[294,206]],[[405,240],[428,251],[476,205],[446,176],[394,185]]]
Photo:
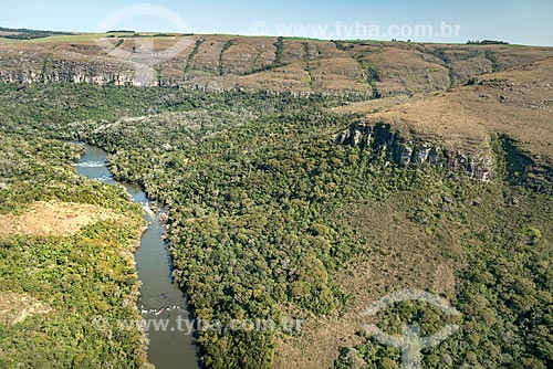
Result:
[[482,73],[552,55],[551,48],[230,35],[83,34],[29,42],[0,38],[0,80],[371,98],[445,91]]

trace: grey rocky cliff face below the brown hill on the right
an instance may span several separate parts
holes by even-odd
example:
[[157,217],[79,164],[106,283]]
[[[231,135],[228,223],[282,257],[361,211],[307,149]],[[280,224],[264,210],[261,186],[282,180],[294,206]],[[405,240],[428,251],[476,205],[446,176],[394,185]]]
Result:
[[469,178],[489,181],[493,178],[493,155],[490,150],[469,154],[444,149],[420,139],[405,139],[389,125],[354,124],[336,137],[336,144],[358,146],[401,167],[434,165]]

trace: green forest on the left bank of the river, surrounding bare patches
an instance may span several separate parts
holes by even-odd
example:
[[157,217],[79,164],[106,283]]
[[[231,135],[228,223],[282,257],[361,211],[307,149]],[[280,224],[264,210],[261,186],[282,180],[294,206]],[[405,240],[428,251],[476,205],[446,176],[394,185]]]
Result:
[[0,215],[23,213],[36,201],[59,201],[94,204],[122,217],[71,235],[0,235],[2,298],[24,296],[10,306],[17,313],[29,308],[24,298],[50,306],[45,315],[0,324],[0,367],[142,366],[144,335],[117,324],[139,318],[132,252],[144,226],[142,209],[123,189],[75,176],[71,164],[82,154],[75,145],[7,131],[0,145]]

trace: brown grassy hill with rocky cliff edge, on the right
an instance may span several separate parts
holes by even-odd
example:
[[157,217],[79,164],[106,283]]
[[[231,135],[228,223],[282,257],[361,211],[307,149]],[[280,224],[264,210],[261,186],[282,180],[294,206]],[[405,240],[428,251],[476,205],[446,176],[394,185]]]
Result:
[[399,166],[430,164],[553,192],[553,59],[365,113],[336,138]]

